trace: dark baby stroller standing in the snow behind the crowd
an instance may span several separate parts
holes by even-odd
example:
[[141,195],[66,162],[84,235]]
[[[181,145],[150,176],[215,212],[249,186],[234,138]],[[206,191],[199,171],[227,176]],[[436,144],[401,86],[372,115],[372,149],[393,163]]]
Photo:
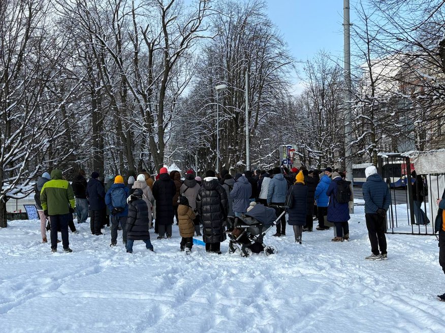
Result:
[[239,252],[243,257],[263,251],[266,256],[275,254],[277,250],[273,246],[266,246],[263,238],[283,214],[284,211],[276,217],[275,209],[257,204],[242,217],[228,216],[228,224],[233,227],[233,231],[229,234],[228,252],[230,254]]

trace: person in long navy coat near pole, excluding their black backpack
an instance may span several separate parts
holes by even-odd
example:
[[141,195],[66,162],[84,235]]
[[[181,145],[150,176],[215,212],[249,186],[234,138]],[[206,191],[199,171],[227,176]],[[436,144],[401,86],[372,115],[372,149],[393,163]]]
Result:
[[329,188],[326,191],[326,195],[329,197],[328,205],[328,221],[334,223],[337,230],[337,236],[335,236],[333,242],[342,242],[349,239],[349,203],[339,203],[337,201],[337,186],[338,182],[343,178],[338,172],[332,174],[332,181],[329,184]]

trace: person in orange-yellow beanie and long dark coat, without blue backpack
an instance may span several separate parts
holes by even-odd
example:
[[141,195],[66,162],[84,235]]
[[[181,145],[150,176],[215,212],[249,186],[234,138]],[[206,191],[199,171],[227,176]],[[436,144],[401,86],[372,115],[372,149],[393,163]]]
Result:
[[301,244],[301,234],[303,226],[306,224],[308,187],[304,186],[304,176],[302,171],[300,171],[295,178],[295,184],[288,190],[288,196],[291,193],[294,196],[292,207],[289,207],[288,224],[293,226],[295,241]]

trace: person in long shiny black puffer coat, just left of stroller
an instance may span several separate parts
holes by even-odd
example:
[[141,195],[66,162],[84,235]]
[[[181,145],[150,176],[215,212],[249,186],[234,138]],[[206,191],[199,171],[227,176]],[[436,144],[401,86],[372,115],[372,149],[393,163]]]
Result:
[[229,212],[227,193],[211,170],[207,171],[196,199],[203,224],[203,241],[207,252],[220,254],[220,243],[226,240],[225,222]]

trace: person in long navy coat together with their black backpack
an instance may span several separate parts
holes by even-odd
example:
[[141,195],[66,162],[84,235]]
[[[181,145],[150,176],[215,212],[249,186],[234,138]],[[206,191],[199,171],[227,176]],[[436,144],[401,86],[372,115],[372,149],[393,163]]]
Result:
[[328,221],[334,223],[337,236],[333,242],[349,240],[349,201],[351,200],[351,181],[343,180],[338,172],[332,174],[332,181],[326,191],[329,197]]

